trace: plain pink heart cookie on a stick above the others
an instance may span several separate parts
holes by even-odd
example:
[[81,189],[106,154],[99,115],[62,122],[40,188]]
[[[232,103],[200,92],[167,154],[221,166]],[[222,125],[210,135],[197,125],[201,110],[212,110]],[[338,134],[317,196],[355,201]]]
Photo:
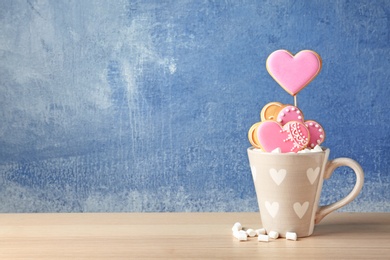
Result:
[[290,95],[295,96],[320,72],[321,57],[314,51],[303,50],[295,56],[286,50],[277,50],[268,56],[268,73]]

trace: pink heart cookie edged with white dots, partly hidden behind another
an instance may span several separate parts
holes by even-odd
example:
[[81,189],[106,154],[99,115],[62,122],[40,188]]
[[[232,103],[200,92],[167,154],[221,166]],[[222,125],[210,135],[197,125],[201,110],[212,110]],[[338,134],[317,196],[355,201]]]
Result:
[[298,121],[305,123],[309,130],[309,147],[313,148],[316,145],[320,145],[325,140],[325,131],[322,126],[314,120],[304,121],[303,114],[299,108],[288,105],[284,107],[276,117],[276,121],[282,126],[291,121]]

